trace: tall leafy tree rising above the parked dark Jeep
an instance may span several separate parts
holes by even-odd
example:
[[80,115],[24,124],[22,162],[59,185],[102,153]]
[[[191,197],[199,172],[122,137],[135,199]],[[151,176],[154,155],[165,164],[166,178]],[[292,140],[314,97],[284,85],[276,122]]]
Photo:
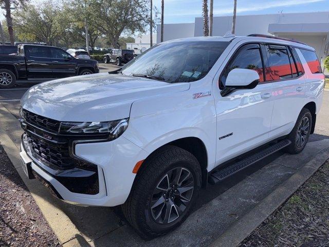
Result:
[[93,4],[93,23],[109,43],[119,47],[122,33],[145,33],[150,24],[149,0],[98,0]]

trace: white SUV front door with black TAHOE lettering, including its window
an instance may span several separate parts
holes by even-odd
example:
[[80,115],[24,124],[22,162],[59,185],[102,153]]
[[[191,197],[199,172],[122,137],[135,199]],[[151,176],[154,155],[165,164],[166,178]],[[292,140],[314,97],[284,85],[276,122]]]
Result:
[[222,89],[233,68],[256,70],[260,83],[254,89],[215,96],[217,116],[216,161],[221,164],[268,141],[273,110],[273,84],[264,83],[264,60],[259,44],[245,44],[232,52],[220,76]]

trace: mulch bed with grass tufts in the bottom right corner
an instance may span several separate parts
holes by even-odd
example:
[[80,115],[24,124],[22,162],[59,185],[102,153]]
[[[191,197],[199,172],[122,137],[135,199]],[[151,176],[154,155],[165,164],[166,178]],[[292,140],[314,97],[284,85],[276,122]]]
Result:
[[329,246],[329,161],[239,246]]

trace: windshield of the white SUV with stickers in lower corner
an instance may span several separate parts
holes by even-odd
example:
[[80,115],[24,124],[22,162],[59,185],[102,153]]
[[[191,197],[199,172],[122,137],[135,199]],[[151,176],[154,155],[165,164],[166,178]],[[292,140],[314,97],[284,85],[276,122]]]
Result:
[[203,78],[229,42],[196,41],[163,43],[152,47],[122,67],[122,74],[167,82]]

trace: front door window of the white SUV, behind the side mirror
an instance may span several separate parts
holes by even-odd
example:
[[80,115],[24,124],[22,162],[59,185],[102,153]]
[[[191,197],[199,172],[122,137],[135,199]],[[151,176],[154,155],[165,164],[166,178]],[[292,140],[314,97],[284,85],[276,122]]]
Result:
[[221,84],[225,85],[228,73],[233,68],[253,69],[259,74],[260,82],[264,81],[263,63],[260,46],[258,44],[244,45],[237,50],[221,76]]

